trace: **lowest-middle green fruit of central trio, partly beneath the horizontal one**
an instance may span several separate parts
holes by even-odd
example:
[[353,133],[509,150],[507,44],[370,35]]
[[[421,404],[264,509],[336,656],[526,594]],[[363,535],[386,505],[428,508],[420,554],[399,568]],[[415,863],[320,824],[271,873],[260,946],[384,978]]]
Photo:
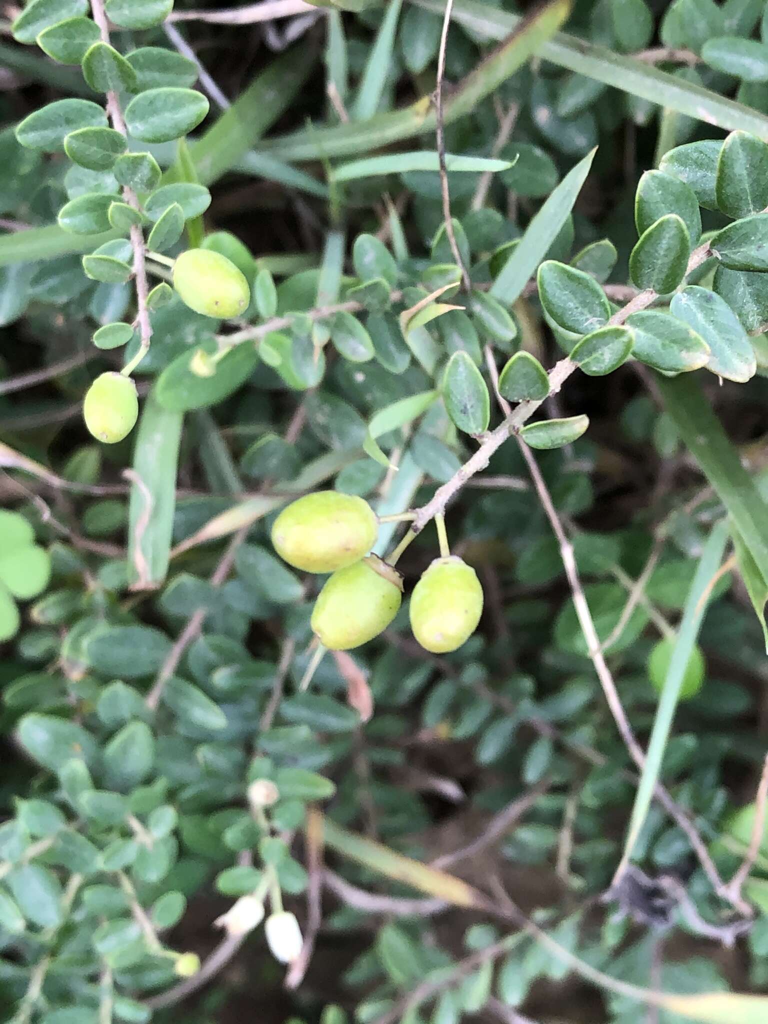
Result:
[[399,572],[369,555],[326,582],[312,609],[312,630],[330,650],[351,650],[378,637],[401,601]]

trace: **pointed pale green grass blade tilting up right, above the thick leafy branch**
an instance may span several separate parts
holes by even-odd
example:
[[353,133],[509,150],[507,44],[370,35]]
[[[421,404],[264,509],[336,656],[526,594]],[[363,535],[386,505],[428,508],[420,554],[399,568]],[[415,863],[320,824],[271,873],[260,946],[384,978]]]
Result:
[[549,247],[573,209],[577,197],[592,167],[595,153],[596,150],[588,153],[568,171],[528,224],[520,245],[504,264],[490,289],[490,295],[500,302],[511,306],[536,273],[536,268],[547,255]]

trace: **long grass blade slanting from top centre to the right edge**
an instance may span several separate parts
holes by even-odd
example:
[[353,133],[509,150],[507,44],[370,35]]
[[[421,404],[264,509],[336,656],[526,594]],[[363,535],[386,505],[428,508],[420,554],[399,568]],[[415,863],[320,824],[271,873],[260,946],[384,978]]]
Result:
[[[443,0],[414,2],[437,13],[444,8]],[[454,17],[486,39],[504,39],[521,20],[516,14],[477,0],[456,0]],[[687,114],[707,124],[718,125],[726,131],[741,128],[760,138],[768,138],[768,116],[765,114],[584,39],[558,33],[542,45],[540,55],[561,68]]]

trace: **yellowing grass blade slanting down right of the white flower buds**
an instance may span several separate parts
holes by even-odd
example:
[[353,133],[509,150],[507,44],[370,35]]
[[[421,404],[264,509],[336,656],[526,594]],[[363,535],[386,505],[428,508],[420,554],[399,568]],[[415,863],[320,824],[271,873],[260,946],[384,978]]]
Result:
[[[313,814],[319,812],[313,811]],[[323,838],[326,846],[340,853],[343,857],[365,864],[379,874],[396,882],[404,882],[419,892],[444,899],[455,906],[480,906],[482,900],[472,886],[462,882],[461,879],[439,871],[434,867],[428,867],[418,860],[403,857],[401,853],[395,853],[382,843],[375,843],[373,840],[355,836],[354,833],[347,831],[341,825],[337,825],[330,818],[323,818]]]

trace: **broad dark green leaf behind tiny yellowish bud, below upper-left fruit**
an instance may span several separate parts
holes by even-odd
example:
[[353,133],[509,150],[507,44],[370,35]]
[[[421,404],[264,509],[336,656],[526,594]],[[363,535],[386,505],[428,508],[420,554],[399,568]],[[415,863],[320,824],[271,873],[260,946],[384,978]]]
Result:
[[158,379],[158,401],[170,412],[185,413],[205,409],[226,398],[241,387],[256,369],[259,356],[252,344],[236,345],[215,366],[211,377],[194,372],[197,352],[184,352],[166,367]]

